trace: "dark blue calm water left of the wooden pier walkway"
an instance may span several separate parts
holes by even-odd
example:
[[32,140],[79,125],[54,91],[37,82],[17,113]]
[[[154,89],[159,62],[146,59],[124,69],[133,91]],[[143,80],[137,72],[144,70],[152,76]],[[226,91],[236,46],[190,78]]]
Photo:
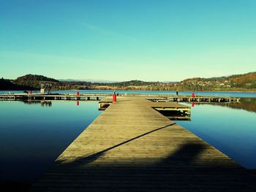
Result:
[[[40,107],[42,106],[42,107]],[[97,118],[97,102],[0,101],[0,187],[28,182]]]

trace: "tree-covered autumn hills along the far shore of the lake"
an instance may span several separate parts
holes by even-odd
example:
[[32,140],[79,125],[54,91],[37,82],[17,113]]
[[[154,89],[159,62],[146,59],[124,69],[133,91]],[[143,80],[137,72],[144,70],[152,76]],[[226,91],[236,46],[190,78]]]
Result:
[[98,89],[98,90],[142,90],[142,91],[256,91],[256,72],[235,74],[227,77],[194,77],[181,82],[124,82],[59,81],[37,74],[26,74],[16,80],[1,80],[1,90],[37,89],[48,82],[53,90]]

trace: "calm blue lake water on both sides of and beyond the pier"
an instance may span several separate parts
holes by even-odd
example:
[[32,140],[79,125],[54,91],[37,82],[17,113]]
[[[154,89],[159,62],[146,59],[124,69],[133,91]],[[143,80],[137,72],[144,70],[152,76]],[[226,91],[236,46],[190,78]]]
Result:
[[[67,92],[76,93],[76,91],[64,91]],[[113,93],[113,91],[80,92]],[[128,92],[138,93],[138,91]],[[139,93],[151,92],[170,93],[170,91],[139,91]],[[118,93],[127,93],[127,91],[118,91]],[[238,164],[248,169],[256,169],[256,93],[202,93],[244,96],[244,98],[241,99],[240,104],[195,104],[195,107],[192,107],[191,121],[176,122],[217,147]],[[97,107],[96,101],[80,101],[79,105],[76,101],[33,104],[22,101],[0,101],[0,181],[36,180],[97,118],[101,113]]]

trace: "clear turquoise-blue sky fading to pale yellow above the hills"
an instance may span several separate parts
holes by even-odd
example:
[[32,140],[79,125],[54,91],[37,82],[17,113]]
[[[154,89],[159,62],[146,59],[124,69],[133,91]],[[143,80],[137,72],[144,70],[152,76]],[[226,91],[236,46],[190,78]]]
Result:
[[0,77],[176,81],[256,71],[255,0],[0,0]]

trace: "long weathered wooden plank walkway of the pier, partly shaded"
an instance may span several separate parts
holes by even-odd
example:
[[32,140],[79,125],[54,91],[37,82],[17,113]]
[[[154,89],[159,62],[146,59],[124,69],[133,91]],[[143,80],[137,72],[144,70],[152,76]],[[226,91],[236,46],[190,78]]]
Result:
[[152,104],[111,104],[31,191],[252,191],[246,169]]

